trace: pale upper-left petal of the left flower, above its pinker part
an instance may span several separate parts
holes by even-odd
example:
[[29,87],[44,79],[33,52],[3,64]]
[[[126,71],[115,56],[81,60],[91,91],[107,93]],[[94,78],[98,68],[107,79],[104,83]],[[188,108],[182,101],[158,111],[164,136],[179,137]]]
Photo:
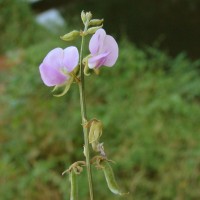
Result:
[[47,66],[51,66],[54,69],[61,69],[63,59],[63,49],[55,48],[51,50],[43,60],[43,63]]

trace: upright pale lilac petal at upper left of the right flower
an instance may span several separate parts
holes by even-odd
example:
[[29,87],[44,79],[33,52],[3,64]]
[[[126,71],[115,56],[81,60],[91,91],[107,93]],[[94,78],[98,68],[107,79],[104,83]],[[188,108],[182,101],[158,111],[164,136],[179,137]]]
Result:
[[104,31],[104,29],[101,28],[96,31],[96,33],[90,39],[89,43],[89,50],[91,54],[101,53],[105,37],[106,32]]

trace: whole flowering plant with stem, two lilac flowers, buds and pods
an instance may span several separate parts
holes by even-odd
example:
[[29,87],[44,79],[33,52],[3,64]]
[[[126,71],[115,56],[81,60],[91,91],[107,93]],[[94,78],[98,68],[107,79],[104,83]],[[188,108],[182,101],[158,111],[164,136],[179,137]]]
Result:
[[[73,82],[79,86],[85,160],[73,163],[63,174],[69,173],[71,182],[70,199],[77,200],[76,178],[81,174],[83,167],[86,166],[90,200],[93,200],[91,165],[103,170],[108,188],[113,193],[118,195],[123,195],[124,193],[121,192],[115,181],[110,165],[111,160],[106,156],[103,143],[100,143],[100,137],[103,133],[102,122],[97,119],[87,119],[84,79],[85,75],[92,73],[92,70],[98,73],[102,66],[112,67],[117,61],[119,50],[115,39],[107,35],[102,28],[102,19],[92,19],[92,14],[90,12],[85,13],[84,11],[81,13],[81,19],[84,24],[84,30],[74,30],[61,37],[64,41],[72,41],[81,37],[80,52],[75,46],[65,49],[55,48],[46,55],[39,66],[39,71],[41,79],[46,86],[54,86],[54,90],[58,87],[65,87],[61,94],[55,96],[66,94]],[[83,57],[85,37],[90,34],[93,34],[89,42],[90,54]],[[91,149],[96,153],[96,156],[93,158],[90,158]]]

